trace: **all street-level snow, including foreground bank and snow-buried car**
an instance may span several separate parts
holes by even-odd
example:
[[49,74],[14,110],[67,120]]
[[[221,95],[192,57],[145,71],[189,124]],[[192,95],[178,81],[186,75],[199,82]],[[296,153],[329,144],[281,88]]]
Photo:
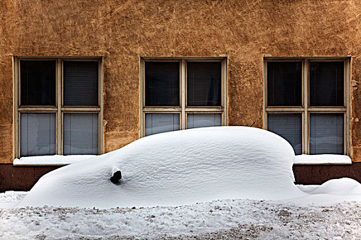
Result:
[[0,238],[361,239],[361,184],[296,186],[294,159],[257,128],[155,134],[0,194]]

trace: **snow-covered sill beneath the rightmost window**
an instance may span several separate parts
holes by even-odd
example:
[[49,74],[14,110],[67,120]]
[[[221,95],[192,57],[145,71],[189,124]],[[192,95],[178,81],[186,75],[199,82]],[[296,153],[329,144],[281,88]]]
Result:
[[316,155],[296,155],[294,165],[350,165],[351,158],[347,155],[336,154],[316,154]]

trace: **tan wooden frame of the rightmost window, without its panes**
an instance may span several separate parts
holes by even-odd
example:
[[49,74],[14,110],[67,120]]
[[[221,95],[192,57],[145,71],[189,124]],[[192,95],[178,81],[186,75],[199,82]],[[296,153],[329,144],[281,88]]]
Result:
[[[267,106],[267,63],[268,62],[302,62],[302,106]],[[344,106],[309,106],[309,62],[344,62]],[[351,57],[344,58],[263,58],[263,128],[267,130],[267,114],[302,113],[302,153],[309,154],[309,114],[342,113],[344,115],[344,154],[350,155],[349,121]]]

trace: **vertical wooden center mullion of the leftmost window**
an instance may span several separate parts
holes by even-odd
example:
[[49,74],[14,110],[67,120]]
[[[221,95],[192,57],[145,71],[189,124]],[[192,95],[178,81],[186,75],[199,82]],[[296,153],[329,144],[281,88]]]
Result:
[[61,114],[61,106],[63,105],[62,93],[63,93],[63,67],[61,59],[56,62],[56,106],[58,110],[56,112],[56,154],[63,154],[63,117]]

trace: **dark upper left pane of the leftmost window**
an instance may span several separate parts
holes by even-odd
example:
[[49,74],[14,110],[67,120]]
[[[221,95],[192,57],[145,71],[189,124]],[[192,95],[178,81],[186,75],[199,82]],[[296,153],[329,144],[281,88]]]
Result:
[[55,106],[56,61],[20,61],[20,105]]

